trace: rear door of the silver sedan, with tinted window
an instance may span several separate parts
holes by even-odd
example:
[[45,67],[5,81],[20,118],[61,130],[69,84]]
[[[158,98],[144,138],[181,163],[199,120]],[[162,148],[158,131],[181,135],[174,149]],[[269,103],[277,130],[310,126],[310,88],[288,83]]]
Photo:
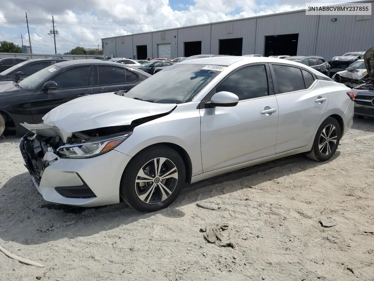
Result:
[[327,93],[310,72],[297,67],[273,65],[278,86],[278,135],[275,152],[306,146],[327,108]]

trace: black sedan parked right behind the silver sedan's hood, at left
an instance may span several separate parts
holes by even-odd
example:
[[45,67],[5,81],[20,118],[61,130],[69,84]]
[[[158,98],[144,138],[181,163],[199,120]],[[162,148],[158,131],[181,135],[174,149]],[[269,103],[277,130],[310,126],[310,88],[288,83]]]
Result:
[[26,132],[19,123],[40,123],[47,112],[62,103],[91,94],[130,90],[148,77],[132,66],[87,59],[53,64],[21,82],[0,82],[0,135],[2,124],[18,135]]

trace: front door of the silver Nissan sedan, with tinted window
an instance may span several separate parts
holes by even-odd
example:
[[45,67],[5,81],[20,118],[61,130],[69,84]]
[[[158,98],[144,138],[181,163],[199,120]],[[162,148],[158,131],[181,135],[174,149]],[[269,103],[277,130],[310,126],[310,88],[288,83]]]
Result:
[[264,64],[236,70],[215,92],[232,92],[239,103],[200,109],[203,172],[275,154],[278,106],[269,75]]

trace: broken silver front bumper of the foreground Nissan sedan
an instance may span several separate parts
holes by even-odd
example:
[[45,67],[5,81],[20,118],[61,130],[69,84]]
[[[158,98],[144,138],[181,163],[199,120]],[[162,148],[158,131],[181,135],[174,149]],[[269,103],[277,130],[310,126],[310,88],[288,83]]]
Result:
[[[92,158],[51,160],[51,154],[55,154],[43,155],[38,142],[25,135],[19,148],[25,167],[46,201],[82,207],[119,203],[120,181],[130,156],[112,150]],[[38,157],[31,149],[39,152]]]

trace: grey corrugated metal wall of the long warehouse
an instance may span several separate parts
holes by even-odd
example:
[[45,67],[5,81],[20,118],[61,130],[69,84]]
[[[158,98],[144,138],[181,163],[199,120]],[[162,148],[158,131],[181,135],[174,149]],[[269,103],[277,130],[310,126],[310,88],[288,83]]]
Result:
[[[373,2],[371,5],[374,10]],[[331,21],[332,18],[337,18],[337,21]],[[117,37],[116,47],[117,56],[132,57],[131,54],[136,55],[137,45],[147,45],[148,57],[157,57],[157,44],[171,43],[171,56],[174,58],[184,56],[184,42],[201,41],[202,54],[218,54],[220,39],[243,38],[243,55],[264,55],[265,36],[293,33],[299,34],[297,55],[321,55],[329,60],[344,52],[366,51],[373,47],[374,15],[369,19],[356,20],[355,15],[315,16],[305,15],[305,11],[290,12],[134,34],[125,36],[122,44],[125,48],[120,47],[118,41],[121,37]],[[134,42],[127,45],[132,37]],[[115,51],[114,40],[102,39],[105,55]],[[133,50],[130,51],[130,47]]]

